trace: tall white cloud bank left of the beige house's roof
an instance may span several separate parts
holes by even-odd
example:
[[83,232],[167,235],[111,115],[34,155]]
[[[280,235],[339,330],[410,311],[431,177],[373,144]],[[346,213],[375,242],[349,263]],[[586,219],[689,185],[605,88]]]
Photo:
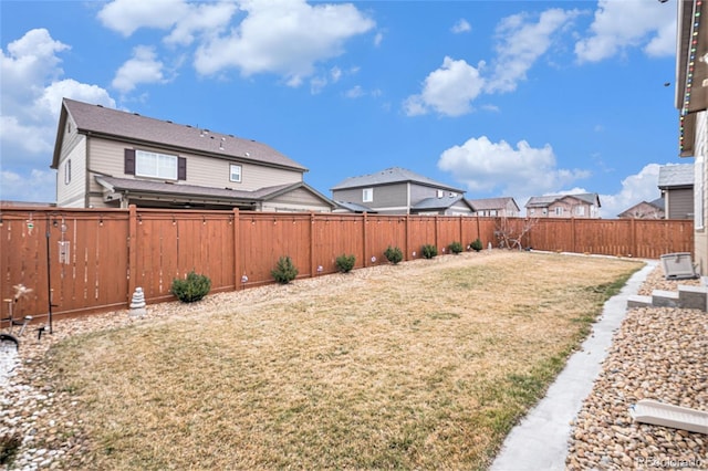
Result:
[[[37,168],[49,168],[52,161],[63,97],[115,107],[105,90],[61,78],[59,53],[67,49],[49,31],[39,29],[9,43],[7,53],[2,51],[0,148],[4,199],[54,200],[54,172]],[[51,198],[40,197],[42,192]]]

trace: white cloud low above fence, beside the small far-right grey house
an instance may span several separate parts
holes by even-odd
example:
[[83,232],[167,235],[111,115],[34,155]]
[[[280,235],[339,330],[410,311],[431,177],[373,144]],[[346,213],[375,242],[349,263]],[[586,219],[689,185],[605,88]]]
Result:
[[625,209],[642,201],[654,201],[662,196],[658,189],[658,164],[648,164],[636,175],[622,180],[622,189],[615,195],[601,195],[601,214],[603,218],[614,219]]

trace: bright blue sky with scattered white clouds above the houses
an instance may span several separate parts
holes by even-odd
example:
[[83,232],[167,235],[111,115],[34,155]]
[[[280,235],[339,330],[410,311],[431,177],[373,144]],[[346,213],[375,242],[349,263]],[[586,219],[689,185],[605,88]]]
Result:
[[0,0],[0,18],[4,200],[54,201],[64,96],[263,142],[325,196],[404,167],[520,207],[597,192],[614,218],[690,163],[676,0]]

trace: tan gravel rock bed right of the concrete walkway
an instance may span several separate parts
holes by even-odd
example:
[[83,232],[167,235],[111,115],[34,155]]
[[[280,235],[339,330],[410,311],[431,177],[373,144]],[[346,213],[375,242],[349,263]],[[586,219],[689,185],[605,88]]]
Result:
[[[644,283],[676,291],[660,266]],[[708,314],[670,307],[634,308],[615,333],[590,396],[573,425],[569,470],[708,469],[708,435],[634,422],[641,399],[708,410]]]

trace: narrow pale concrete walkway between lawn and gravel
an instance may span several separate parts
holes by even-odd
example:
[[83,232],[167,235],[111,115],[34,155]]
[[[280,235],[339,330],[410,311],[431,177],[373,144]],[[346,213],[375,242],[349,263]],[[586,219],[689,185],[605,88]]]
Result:
[[607,300],[593,334],[573,354],[545,397],[514,427],[492,463],[491,471],[564,470],[571,422],[590,395],[612,345],[614,331],[626,314],[627,297],[636,294],[656,261],[636,272],[620,294]]

